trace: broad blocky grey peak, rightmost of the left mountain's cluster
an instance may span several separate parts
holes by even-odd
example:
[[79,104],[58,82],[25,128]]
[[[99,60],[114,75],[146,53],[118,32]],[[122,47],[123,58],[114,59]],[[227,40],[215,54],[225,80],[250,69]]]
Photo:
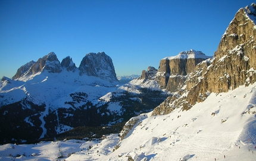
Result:
[[79,70],[80,76],[96,76],[110,82],[118,81],[112,59],[104,52],[86,54],[80,63]]

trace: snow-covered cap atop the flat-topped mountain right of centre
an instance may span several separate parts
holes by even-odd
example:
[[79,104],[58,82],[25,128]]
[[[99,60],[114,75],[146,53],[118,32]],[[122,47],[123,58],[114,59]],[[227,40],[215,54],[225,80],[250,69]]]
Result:
[[188,50],[188,51],[181,51],[176,56],[170,56],[170,57],[164,57],[164,59],[171,60],[171,59],[208,59],[211,58],[211,56],[206,56],[202,51],[196,51],[196,50]]

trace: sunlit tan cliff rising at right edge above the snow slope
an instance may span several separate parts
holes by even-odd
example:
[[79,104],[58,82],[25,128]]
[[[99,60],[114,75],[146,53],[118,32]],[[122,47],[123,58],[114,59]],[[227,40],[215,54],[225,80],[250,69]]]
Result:
[[239,9],[221,37],[214,58],[199,63],[186,79],[186,88],[178,98],[168,97],[155,108],[153,115],[168,114],[178,107],[189,110],[196,102],[204,101],[211,92],[227,92],[255,82],[255,10],[255,4]]

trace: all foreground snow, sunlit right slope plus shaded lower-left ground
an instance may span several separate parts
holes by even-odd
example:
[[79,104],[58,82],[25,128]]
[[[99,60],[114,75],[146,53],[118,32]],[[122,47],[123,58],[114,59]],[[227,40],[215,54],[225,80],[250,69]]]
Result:
[[15,160],[57,160],[60,152],[63,160],[256,160],[256,83],[208,95],[188,111],[141,114],[120,142],[111,134],[103,140],[5,144],[0,160],[18,154]]

